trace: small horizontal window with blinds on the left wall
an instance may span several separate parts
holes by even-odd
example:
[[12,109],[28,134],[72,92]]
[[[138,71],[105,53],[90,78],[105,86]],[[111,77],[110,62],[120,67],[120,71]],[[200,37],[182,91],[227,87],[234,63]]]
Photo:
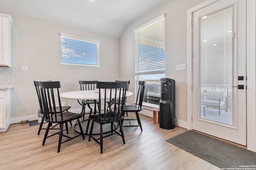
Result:
[[61,64],[100,66],[100,41],[60,34]]

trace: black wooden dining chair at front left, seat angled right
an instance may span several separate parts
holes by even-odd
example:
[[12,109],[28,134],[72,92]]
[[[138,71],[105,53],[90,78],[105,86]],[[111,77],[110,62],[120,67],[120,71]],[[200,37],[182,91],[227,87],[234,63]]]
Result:
[[[70,141],[80,135],[82,135],[82,138],[84,139],[83,129],[79,121],[79,118],[82,117],[82,114],[72,113],[69,111],[62,111],[60,93],[59,93],[60,82],[39,82],[39,86],[42,94],[44,120],[48,122],[48,126],[44,135],[44,140],[42,145],[44,145],[46,138],[52,137],[58,134],[60,135],[59,142],[58,142],[58,152],[60,152],[60,145],[62,143]],[[56,102],[59,103],[59,106],[58,106],[60,108],[59,112],[57,110]],[[64,131],[63,127],[64,127],[64,123],[67,123],[72,120],[77,120],[81,134],[76,135],[74,137],[69,137],[63,134],[63,131]],[[50,126],[52,125],[52,123],[59,123],[60,131],[48,136],[48,132],[50,130]],[[62,137],[66,137],[68,139],[62,142]]]

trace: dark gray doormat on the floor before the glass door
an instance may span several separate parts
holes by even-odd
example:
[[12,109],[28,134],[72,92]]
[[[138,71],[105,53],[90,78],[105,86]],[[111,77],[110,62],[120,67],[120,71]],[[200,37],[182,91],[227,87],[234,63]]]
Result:
[[166,141],[222,169],[256,169],[256,152],[194,131],[186,131]]

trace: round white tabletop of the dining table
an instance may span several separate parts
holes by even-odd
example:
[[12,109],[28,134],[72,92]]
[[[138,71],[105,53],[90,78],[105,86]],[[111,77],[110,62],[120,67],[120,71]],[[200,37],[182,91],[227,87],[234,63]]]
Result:
[[[109,96],[108,93],[110,93],[110,90],[107,91],[107,96]],[[112,94],[114,94],[114,93],[112,92]],[[127,91],[126,97],[132,96],[132,94],[133,94],[132,92]],[[79,91],[60,93],[60,98],[74,99],[74,100],[98,100],[99,93],[96,90],[79,90]]]

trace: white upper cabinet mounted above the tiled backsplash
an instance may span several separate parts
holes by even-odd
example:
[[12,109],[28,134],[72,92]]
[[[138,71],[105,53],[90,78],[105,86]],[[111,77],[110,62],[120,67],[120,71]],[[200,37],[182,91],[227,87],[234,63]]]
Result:
[[0,66],[11,66],[12,17],[0,13]]

